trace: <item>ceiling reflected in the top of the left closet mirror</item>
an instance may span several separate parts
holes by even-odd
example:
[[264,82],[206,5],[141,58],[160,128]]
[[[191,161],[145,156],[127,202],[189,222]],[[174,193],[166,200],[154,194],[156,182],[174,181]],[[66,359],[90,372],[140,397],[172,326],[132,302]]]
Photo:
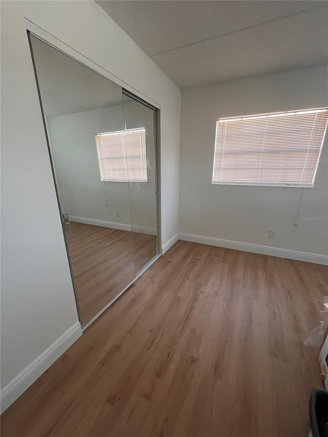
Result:
[[46,117],[122,103],[119,86],[38,38],[31,42]]

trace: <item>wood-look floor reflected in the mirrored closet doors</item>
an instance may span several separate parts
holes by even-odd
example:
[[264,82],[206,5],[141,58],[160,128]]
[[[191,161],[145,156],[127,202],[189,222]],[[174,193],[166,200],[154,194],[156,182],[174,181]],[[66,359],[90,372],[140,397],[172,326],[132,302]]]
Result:
[[157,238],[77,222],[66,224],[65,233],[86,325],[133,281],[135,271],[156,255]]

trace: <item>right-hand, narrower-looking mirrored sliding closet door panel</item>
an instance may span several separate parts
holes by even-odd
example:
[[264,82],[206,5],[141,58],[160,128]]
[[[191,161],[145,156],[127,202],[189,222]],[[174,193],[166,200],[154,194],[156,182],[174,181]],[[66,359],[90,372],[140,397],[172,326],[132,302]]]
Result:
[[158,253],[155,111],[123,96],[136,273]]

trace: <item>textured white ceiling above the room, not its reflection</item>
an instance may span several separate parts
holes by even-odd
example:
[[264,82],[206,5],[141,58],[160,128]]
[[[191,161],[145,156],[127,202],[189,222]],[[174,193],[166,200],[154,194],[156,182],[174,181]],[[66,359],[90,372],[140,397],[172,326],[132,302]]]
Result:
[[327,2],[96,2],[181,90],[328,60]]

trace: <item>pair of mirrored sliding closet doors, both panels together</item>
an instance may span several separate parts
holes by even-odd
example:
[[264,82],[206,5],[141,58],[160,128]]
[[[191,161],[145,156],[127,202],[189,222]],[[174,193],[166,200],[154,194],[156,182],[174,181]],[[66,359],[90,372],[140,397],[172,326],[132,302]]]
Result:
[[29,34],[81,324],[158,254],[155,111]]

